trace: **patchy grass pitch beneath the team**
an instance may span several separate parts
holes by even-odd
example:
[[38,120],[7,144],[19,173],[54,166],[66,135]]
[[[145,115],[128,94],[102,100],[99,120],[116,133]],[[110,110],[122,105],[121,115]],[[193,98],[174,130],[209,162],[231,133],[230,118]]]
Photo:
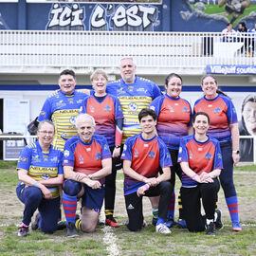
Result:
[[[118,174],[115,216],[119,223],[127,220],[122,193],[123,174]],[[146,229],[131,232],[99,226],[92,234],[80,233],[68,239],[65,230],[46,235],[40,230],[27,237],[17,237],[17,226],[22,220],[23,204],[15,194],[18,183],[13,166],[0,170],[0,254],[1,255],[256,255],[256,166],[240,167],[234,172],[239,197],[242,232],[232,232],[229,212],[223,191],[219,192],[219,208],[223,212],[224,229],[216,237],[205,232],[190,233],[187,229],[172,229],[169,236],[156,234],[151,225],[149,200],[144,198]],[[179,189],[176,184],[176,193]],[[177,209],[177,206],[176,206]],[[177,216],[177,210],[175,212]],[[102,212],[103,214],[103,212]],[[101,215],[101,219],[103,216]]]

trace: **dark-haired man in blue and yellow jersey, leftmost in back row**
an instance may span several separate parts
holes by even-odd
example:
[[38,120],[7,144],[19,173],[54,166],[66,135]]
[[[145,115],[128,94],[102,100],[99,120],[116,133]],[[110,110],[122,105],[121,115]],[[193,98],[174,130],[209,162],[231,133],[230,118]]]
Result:
[[56,131],[52,144],[63,151],[64,142],[77,135],[75,119],[87,94],[75,90],[76,75],[70,69],[61,72],[59,86],[61,90],[46,99],[38,121],[45,119],[53,121]]

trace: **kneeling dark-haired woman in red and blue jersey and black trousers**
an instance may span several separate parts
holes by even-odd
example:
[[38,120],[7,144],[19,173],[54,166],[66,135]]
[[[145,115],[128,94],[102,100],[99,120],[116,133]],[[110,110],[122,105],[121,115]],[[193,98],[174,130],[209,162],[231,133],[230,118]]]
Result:
[[194,115],[194,135],[181,139],[178,161],[183,171],[180,193],[187,227],[191,232],[207,229],[208,235],[215,235],[214,226],[216,229],[223,227],[220,210],[215,212],[220,189],[217,177],[223,166],[219,142],[206,135],[209,124],[206,113]]

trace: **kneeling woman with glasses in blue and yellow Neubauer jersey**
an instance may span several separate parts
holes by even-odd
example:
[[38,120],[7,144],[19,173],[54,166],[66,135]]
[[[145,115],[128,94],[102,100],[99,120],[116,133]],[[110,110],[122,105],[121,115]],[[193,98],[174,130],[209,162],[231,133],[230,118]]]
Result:
[[51,145],[54,124],[44,120],[38,126],[38,141],[28,145],[20,154],[17,171],[20,183],[18,198],[25,204],[22,225],[18,236],[27,236],[28,226],[38,209],[32,229],[45,233],[57,230],[60,210],[59,186],[64,182],[63,154]]

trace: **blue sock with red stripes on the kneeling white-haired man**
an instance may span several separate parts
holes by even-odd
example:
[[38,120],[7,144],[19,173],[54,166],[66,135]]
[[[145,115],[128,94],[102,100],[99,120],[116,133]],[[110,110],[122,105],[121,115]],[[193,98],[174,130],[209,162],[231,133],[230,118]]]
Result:
[[68,195],[65,192],[63,193],[63,207],[66,223],[69,222],[75,223],[76,211],[77,211],[77,196]]

